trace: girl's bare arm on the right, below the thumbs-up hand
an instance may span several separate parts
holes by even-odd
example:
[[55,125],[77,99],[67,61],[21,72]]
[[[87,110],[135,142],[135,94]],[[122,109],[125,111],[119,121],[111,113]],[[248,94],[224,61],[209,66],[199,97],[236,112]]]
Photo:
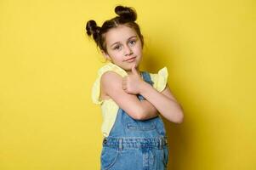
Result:
[[140,86],[140,93],[156,107],[162,116],[168,119],[170,122],[181,123],[183,122],[183,110],[181,105],[174,98],[171,93],[168,84],[166,88],[159,93],[155,88],[151,87],[148,83],[142,83]]

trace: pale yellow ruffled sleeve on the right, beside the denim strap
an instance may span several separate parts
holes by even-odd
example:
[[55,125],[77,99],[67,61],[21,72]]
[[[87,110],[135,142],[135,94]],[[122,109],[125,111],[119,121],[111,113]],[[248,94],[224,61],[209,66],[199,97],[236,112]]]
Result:
[[156,88],[158,92],[162,92],[168,82],[167,67],[163,67],[161,70],[158,71],[157,74],[152,74],[151,79],[154,82],[153,87]]

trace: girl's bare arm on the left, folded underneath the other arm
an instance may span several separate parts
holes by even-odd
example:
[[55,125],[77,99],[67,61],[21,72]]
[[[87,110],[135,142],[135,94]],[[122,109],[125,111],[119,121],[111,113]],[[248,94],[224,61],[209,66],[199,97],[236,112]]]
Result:
[[[110,81],[111,80],[111,81]],[[158,115],[155,106],[147,100],[139,100],[122,89],[122,77],[114,71],[106,71],[101,77],[102,88],[123,111],[136,120],[146,120]]]

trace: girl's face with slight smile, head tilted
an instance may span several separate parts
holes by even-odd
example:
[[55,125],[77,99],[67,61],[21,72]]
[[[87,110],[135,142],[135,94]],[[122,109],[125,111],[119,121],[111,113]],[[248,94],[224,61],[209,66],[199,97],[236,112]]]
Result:
[[130,71],[134,63],[136,66],[142,58],[142,46],[136,31],[128,26],[117,26],[105,33],[107,59]]

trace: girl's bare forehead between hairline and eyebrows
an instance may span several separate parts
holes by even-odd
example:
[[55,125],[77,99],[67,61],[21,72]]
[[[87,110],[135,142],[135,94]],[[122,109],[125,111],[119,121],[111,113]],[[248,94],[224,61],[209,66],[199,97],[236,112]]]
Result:
[[117,26],[106,32],[105,41],[110,43],[119,42],[134,36],[137,36],[137,33],[133,28],[128,26]]

